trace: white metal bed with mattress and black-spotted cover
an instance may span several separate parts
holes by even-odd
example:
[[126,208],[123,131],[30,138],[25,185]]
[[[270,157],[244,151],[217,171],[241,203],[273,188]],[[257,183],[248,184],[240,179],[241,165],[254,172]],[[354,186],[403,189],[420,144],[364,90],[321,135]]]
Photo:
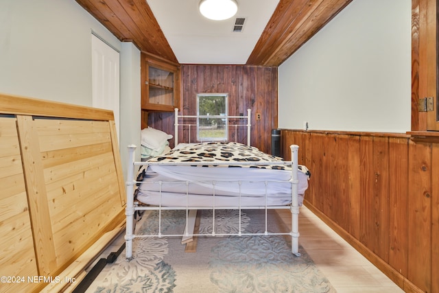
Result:
[[[176,110],[177,143],[174,149],[137,162],[134,161],[136,146],[128,146],[126,258],[132,259],[132,241],[136,237],[206,235],[193,232],[189,224],[193,222],[193,211],[204,209],[213,211],[213,222],[217,210],[235,209],[241,215],[243,210],[262,209],[265,211],[265,231],[261,233],[243,233],[239,224],[236,233],[217,233],[213,229],[209,235],[291,235],[292,253],[299,256],[298,213],[310,173],[307,167],[298,165],[298,145],[290,147],[292,161],[283,161],[250,146],[250,110],[247,116],[226,117],[243,121],[241,125],[248,128],[246,144],[237,141],[178,143],[179,119],[185,117],[179,116]],[[136,177],[134,170],[139,170]],[[270,209],[291,211],[291,231],[269,231],[266,219]],[[161,231],[161,213],[166,210],[186,211],[184,232],[167,235]],[[137,211],[158,211],[158,233],[134,234]]]

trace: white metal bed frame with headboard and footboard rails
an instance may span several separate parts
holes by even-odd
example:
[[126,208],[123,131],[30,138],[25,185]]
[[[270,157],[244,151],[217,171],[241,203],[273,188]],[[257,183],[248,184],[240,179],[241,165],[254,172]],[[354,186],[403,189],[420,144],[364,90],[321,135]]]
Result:
[[[176,139],[176,145],[178,144],[178,126],[184,125],[184,124],[178,124],[178,119],[185,118],[188,116],[182,116],[178,115],[178,109],[176,109],[176,132],[175,132],[175,139]],[[191,118],[197,117],[197,116],[189,116]],[[224,118],[222,116],[221,118]],[[239,119],[248,119],[248,122],[246,126],[248,127],[248,145],[250,145],[250,109],[248,110],[248,116],[229,116],[226,117],[226,119],[229,118],[239,118]],[[126,203],[126,258],[128,260],[132,259],[132,241],[134,238],[137,237],[193,237],[193,236],[206,236],[206,235],[237,235],[237,236],[243,236],[243,235],[290,235],[292,237],[292,253],[296,256],[300,256],[300,253],[298,252],[298,215],[299,215],[299,205],[298,205],[298,145],[291,145],[291,153],[292,153],[292,161],[278,161],[278,162],[266,162],[261,163],[258,162],[256,165],[291,165],[292,166],[292,176],[288,180],[289,183],[291,183],[291,194],[292,194],[292,203],[289,205],[283,205],[283,206],[268,206],[267,204],[267,195],[268,195],[268,182],[265,181],[265,206],[252,206],[252,207],[244,207],[241,206],[241,195],[239,195],[239,206],[238,207],[215,207],[213,204],[212,207],[189,207],[187,204],[186,207],[163,207],[161,204],[158,206],[147,206],[147,205],[141,205],[134,202],[134,186],[137,183],[140,183],[136,181],[134,178],[134,169],[136,166],[140,165],[206,165],[206,162],[181,162],[181,163],[153,163],[153,162],[136,162],[134,161],[134,151],[136,149],[135,145],[128,145],[128,152],[129,152],[129,160],[128,160],[128,178],[126,182],[126,195],[127,195],[127,203]],[[224,162],[221,165],[255,165],[254,162]],[[197,183],[206,183],[206,181],[196,181]],[[218,183],[219,181],[215,180],[209,180],[209,184],[211,184],[213,187],[213,198],[215,198],[215,183]],[[248,181],[246,181],[248,182]],[[186,185],[188,186],[191,183],[195,183],[195,181],[186,181]],[[222,182],[221,182],[222,183]],[[228,182],[229,183],[229,182]],[[232,183],[232,182],[230,182]],[[235,181],[233,183],[238,183],[241,185],[243,183],[242,181]],[[157,182],[159,186],[161,186],[162,182]],[[161,195],[160,195],[161,196]],[[186,191],[186,197],[189,197],[188,192]],[[188,229],[188,219],[189,219],[189,211],[194,209],[211,209],[213,210],[213,230],[211,234],[206,233],[189,233]],[[218,234],[215,233],[215,210],[219,209],[237,209],[239,210],[239,230],[238,233],[228,233],[228,234]],[[241,231],[241,210],[245,209],[264,209],[265,210],[265,231],[263,233],[242,233]],[[288,233],[271,233],[268,232],[268,209],[289,209],[292,213],[292,230]],[[185,210],[186,211],[186,229],[185,232],[182,234],[163,234],[161,231],[161,213],[162,211],[166,210]],[[154,235],[135,235],[134,234],[134,213],[136,211],[158,211],[158,233]]]

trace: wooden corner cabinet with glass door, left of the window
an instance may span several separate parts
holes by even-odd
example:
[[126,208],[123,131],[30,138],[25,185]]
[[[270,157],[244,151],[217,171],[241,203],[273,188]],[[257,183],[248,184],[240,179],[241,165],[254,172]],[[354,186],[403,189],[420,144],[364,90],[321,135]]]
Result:
[[141,54],[142,128],[149,112],[174,112],[180,104],[180,65]]

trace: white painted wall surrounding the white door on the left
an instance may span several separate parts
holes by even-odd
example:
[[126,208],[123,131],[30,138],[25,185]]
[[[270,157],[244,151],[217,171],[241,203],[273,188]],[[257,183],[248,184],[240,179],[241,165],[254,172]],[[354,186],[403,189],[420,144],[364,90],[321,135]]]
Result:
[[0,93],[92,106],[92,31],[121,52],[124,155],[126,145],[140,141],[140,51],[76,1],[0,0]]

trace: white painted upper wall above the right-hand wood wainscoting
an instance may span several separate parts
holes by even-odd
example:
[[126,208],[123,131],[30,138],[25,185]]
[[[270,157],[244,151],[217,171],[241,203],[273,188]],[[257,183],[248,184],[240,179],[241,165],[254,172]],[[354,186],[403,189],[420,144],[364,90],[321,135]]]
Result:
[[406,132],[410,0],[354,0],[278,69],[278,126]]

